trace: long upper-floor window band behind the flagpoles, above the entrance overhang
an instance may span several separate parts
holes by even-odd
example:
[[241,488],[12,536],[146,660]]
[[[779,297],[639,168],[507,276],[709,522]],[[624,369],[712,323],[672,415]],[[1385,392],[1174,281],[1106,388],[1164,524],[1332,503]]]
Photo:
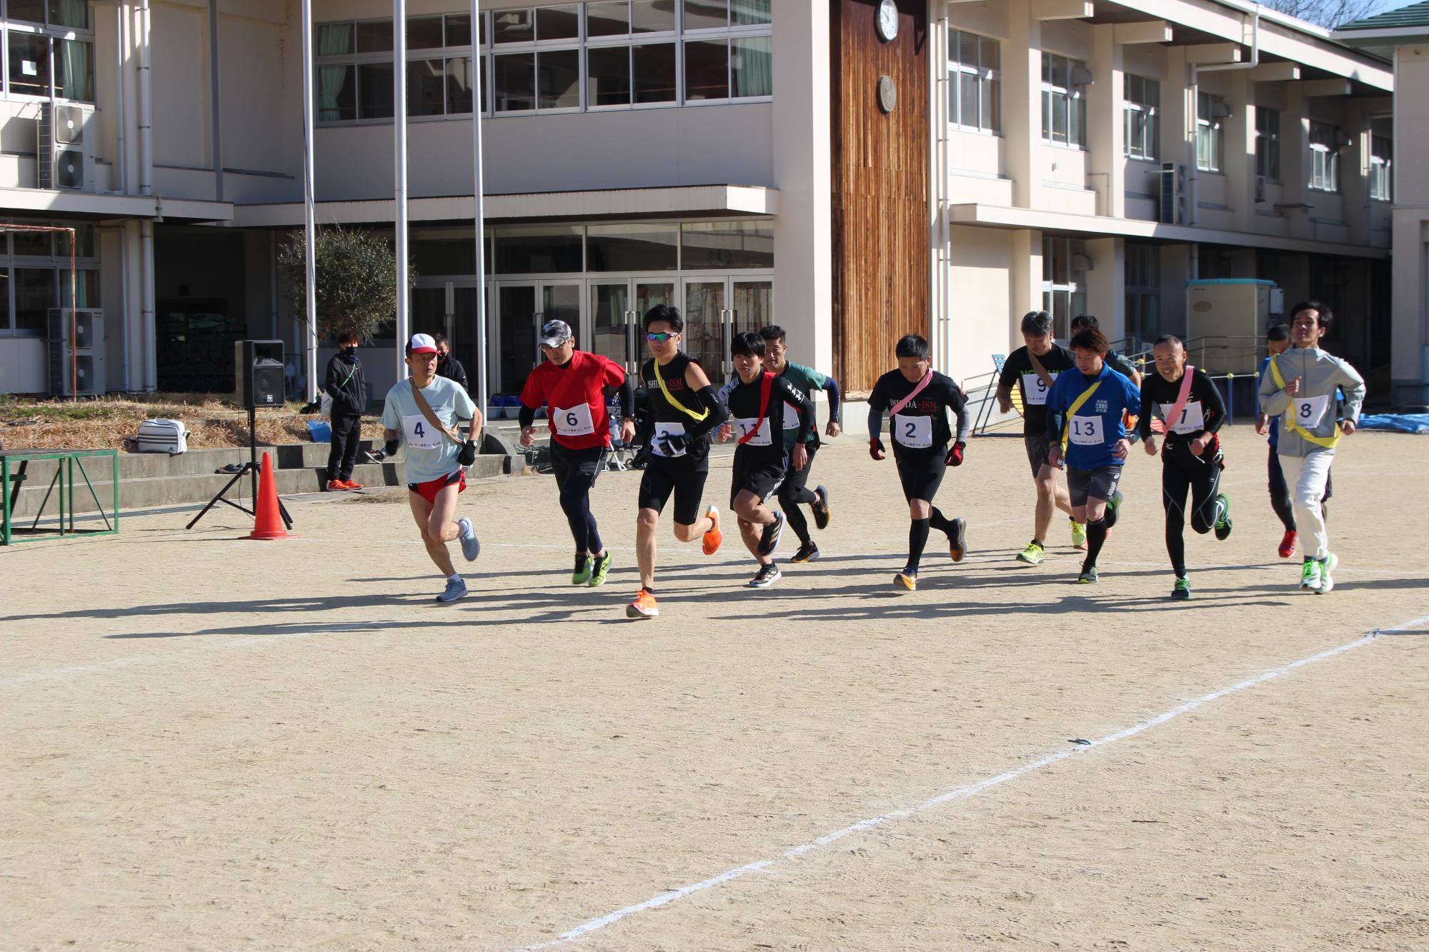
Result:
[[[482,113],[767,100],[772,9],[772,0],[596,0],[483,13]],[[319,24],[316,41],[319,122],[392,119],[392,20]],[[409,17],[409,116],[470,114],[472,54],[469,14]]]

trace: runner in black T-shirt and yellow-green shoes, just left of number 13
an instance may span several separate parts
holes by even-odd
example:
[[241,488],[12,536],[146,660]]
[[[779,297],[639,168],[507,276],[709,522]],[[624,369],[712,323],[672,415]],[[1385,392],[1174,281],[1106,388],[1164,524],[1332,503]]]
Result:
[[1032,516],[1032,542],[1017,553],[1017,562],[1039,565],[1052,527],[1053,507],[1065,512],[1072,522],[1072,547],[1086,549],[1086,526],[1072,517],[1067,490],[1057,482],[1057,470],[1047,465],[1047,450],[1052,449],[1047,437],[1047,393],[1060,373],[1076,366],[1076,357],[1052,340],[1052,314],[1045,310],[1023,316],[1022,339],[1026,346],[1007,354],[1002,365],[997,406],[1003,413],[1010,413],[1012,387],[1022,387],[1022,442],[1027,447],[1032,482],[1037,487],[1037,507]]

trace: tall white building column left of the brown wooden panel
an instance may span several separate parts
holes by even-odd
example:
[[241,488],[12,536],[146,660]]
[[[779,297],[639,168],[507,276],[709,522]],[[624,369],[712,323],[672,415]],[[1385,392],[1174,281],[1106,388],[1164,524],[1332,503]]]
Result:
[[[833,366],[833,154],[829,4],[775,17],[775,313],[800,363]],[[792,94],[802,90],[800,94]]]

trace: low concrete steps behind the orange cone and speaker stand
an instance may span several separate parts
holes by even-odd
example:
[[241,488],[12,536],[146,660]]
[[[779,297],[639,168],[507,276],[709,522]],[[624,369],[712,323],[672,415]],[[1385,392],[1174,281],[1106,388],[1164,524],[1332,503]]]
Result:
[[[363,450],[370,449],[369,442],[363,442]],[[327,443],[293,443],[286,446],[260,446],[259,459],[267,452],[273,456],[274,480],[280,496],[299,493],[323,492],[327,483]],[[216,492],[231,479],[230,475],[216,473],[229,463],[244,463],[249,459],[247,449],[204,449],[189,450],[179,456],[164,453],[120,453],[119,455],[119,507],[150,509],[156,506],[174,506],[183,503],[209,502]],[[520,466],[516,457],[516,469]],[[13,479],[11,463],[11,479]],[[27,525],[33,519],[44,499],[50,480],[54,477],[56,463],[30,463],[24,486],[16,503],[16,523]],[[114,483],[109,460],[84,460],[94,495],[107,510],[113,505]],[[500,455],[482,455],[467,472],[467,480],[490,479],[512,472],[512,459]],[[363,463],[353,469],[353,479],[364,486],[406,486],[406,466],[402,455],[382,463]],[[73,507],[76,513],[96,512],[94,497],[84,486],[84,480],[76,472],[79,483],[74,492]],[[252,482],[247,476],[240,479],[229,492],[229,497],[243,505],[252,503]],[[51,496],[46,507],[46,520],[59,515],[59,489]]]

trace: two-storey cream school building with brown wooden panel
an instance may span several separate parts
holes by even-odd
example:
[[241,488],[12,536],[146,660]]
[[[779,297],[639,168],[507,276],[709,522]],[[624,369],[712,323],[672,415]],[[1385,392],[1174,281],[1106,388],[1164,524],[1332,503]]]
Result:
[[[0,213],[79,230],[80,389],[224,392],[233,342],[279,337],[299,392],[274,263],[303,223],[299,0],[0,16]],[[662,302],[713,377],[732,332],[779,323],[795,359],[863,390],[909,332],[967,379],[1027,310],[1063,337],[1092,313],[1113,339],[1226,349],[1313,296],[1372,392],[1415,377],[1390,320],[1395,67],[1315,26],[1242,0],[494,1],[477,20],[412,0],[396,64],[392,3],[313,0],[316,199],[320,224],[392,233],[400,66],[412,324],[473,370],[480,110],[493,393],[540,359],[540,320],[633,362]],[[67,240],[3,237],[0,390],[63,392]],[[1225,304],[1232,332],[1187,282],[1269,290]],[[363,352],[377,393],[393,347]]]

